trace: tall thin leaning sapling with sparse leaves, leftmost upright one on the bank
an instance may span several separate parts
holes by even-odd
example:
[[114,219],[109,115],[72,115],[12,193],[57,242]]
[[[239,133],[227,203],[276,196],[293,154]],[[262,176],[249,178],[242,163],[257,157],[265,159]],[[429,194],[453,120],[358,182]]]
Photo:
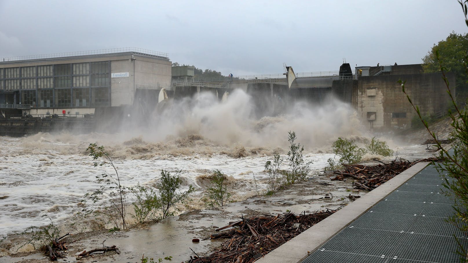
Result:
[[[94,167],[97,166],[110,166],[114,169],[115,175],[110,175],[104,172],[101,175],[96,176],[96,181],[100,183],[99,190],[87,193],[86,198],[93,201],[93,203],[99,204],[100,209],[90,209],[87,214],[94,212],[96,215],[102,215],[108,219],[108,222],[112,222],[116,228],[126,228],[126,210],[125,205],[127,202],[127,191],[126,188],[120,183],[120,177],[109,153],[104,149],[104,146],[97,146],[95,143],[89,144],[86,151],[89,151],[89,156],[93,156],[95,161]],[[86,202],[87,200],[82,200]]]

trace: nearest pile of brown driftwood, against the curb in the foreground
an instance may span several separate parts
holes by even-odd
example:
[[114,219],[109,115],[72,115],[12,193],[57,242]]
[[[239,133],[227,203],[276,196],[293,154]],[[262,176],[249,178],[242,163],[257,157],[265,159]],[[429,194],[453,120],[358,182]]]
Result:
[[[296,215],[264,215],[230,222],[229,225],[216,229],[223,232],[212,234],[205,239],[227,238],[221,248],[208,256],[190,256],[189,263],[252,263],[286,241],[304,232],[307,228],[327,218],[335,210]],[[193,251],[193,250],[192,250]]]

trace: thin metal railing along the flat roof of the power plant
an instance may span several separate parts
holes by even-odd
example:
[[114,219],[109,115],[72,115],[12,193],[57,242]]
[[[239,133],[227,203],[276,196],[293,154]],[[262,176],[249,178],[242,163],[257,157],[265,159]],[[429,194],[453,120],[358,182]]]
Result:
[[124,48],[112,48],[112,49],[101,49],[101,50],[75,51],[75,52],[51,53],[51,54],[42,54],[42,55],[0,58],[0,63],[18,61],[18,60],[77,57],[77,56],[101,55],[101,54],[112,54],[112,53],[123,53],[123,52],[142,53],[146,55],[169,59],[168,53],[162,53],[158,51],[152,51],[152,50],[136,48],[136,47],[124,47]]

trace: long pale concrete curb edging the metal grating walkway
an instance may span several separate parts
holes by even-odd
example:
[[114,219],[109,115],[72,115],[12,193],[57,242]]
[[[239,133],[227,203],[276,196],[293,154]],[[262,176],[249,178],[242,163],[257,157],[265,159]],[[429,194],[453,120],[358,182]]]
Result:
[[323,243],[332,238],[335,234],[348,226],[354,219],[365,213],[380,200],[386,197],[393,190],[408,181],[413,175],[417,174],[428,162],[419,162],[407,170],[403,171],[386,183],[380,185],[375,190],[370,191],[363,197],[357,199],[351,204],[345,206],[339,211],[319,223],[302,232],[292,240],[271,251],[256,263],[299,263],[308,255],[320,248]]

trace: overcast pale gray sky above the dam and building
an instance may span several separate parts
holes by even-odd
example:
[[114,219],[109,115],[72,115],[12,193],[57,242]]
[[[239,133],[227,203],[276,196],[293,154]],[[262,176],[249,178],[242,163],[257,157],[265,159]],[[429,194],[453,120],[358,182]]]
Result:
[[139,47],[224,75],[421,63],[456,0],[0,0],[0,57]]

